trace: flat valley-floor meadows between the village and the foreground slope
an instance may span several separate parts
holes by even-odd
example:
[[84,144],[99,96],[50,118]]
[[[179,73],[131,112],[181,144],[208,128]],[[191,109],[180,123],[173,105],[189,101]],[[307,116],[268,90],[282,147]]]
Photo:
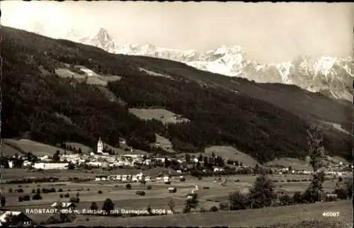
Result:
[[[110,171],[110,173],[114,174],[128,174],[128,171],[131,171],[131,173],[139,173],[138,170],[119,170],[119,171]],[[152,171],[142,171],[143,173],[147,173],[148,175],[156,175],[159,173],[160,170],[152,170]],[[19,173],[19,170],[17,170]],[[67,176],[67,177],[84,177],[84,176],[96,176],[97,173],[80,173],[79,171],[57,171],[57,173],[50,172],[50,171],[45,171],[47,173],[47,176]],[[108,172],[104,172],[108,173]],[[5,174],[9,174],[8,170],[6,170]],[[35,173],[31,173],[35,174]],[[42,173],[36,173],[39,176],[43,175]],[[33,175],[34,176],[34,175]],[[6,177],[5,177],[6,178]],[[253,182],[255,181],[256,176],[229,176],[227,177],[227,186],[223,187],[221,186],[219,181],[215,181],[215,178],[209,177],[209,178],[202,178],[202,180],[198,180],[197,178],[187,176],[187,180],[185,182],[179,181],[177,178],[172,178],[171,185],[166,185],[160,181],[154,181],[154,182],[148,182],[147,185],[151,185],[152,189],[147,190],[146,186],[143,186],[140,183],[131,183],[132,184],[132,189],[131,190],[126,190],[125,189],[125,183],[120,183],[116,181],[89,181],[89,182],[84,182],[84,183],[72,183],[72,182],[58,182],[58,183],[29,183],[29,184],[22,184],[21,188],[23,188],[24,193],[8,193],[8,188],[13,188],[13,190],[20,188],[18,187],[18,184],[1,184],[1,191],[5,193],[6,195],[6,209],[8,210],[21,210],[25,211],[25,209],[34,209],[34,208],[50,208],[50,205],[55,202],[55,200],[69,200],[69,198],[59,198],[60,193],[47,193],[47,194],[41,194],[42,195],[42,200],[31,200],[31,201],[26,201],[26,202],[18,202],[18,196],[20,195],[33,195],[31,194],[31,191],[33,189],[37,188],[56,188],[58,190],[59,188],[62,188],[63,193],[69,193],[70,197],[75,197],[76,193],[79,192],[79,198],[80,198],[80,203],[78,203],[77,210],[79,212],[82,209],[89,209],[91,202],[96,202],[98,207],[101,208],[103,205],[103,201],[106,198],[110,198],[113,200],[113,203],[115,203],[115,208],[118,209],[130,209],[130,210],[145,210],[147,209],[148,206],[152,207],[152,209],[165,209],[169,210],[168,207],[168,202],[169,200],[173,199],[176,203],[176,210],[182,210],[185,204],[185,195],[187,193],[190,193],[190,191],[195,188],[195,185],[198,185],[198,195],[200,199],[200,207],[205,208],[207,210],[210,209],[213,205],[219,206],[219,203],[222,201],[227,200],[227,195],[229,192],[233,190],[240,190],[243,193],[247,193],[249,188],[251,188]],[[279,175],[273,175],[270,176],[273,180],[285,180],[286,179],[304,179],[307,178],[306,176],[295,176],[295,175],[287,175],[285,176],[279,176]],[[235,182],[236,179],[239,179],[239,182]],[[326,191],[332,191],[335,187],[336,182],[332,181],[325,181],[324,183],[324,188]],[[305,188],[309,186],[309,182],[277,182],[275,183],[275,188],[276,190],[285,190],[289,193],[294,193],[295,191],[304,191]],[[169,187],[176,187],[177,192],[176,193],[168,193],[168,188]],[[203,187],[210,187],[210,189],[204,189]],[[102,193],[98,194],[98,190],[101,190]],[[135,192],[137,190],[144,190],[146,195],[145,196],[139,196],[136,195]],[[290,207],[289,207],[290,208]],[[291,208],[297,208],[297,206],[291,207]],[[322,210],[327,210],[328,207],[321,207]],[[267,209],[269,210],[270,213],[276,214],[274,212],[274,208]],[[258,213],[255,213],[258,215]],[[259,211],[259,210],[258,210]],[[296,216],[294,217],[299,218],[299,211],[297,211]],[[224,213],[224,212],[222,212]],[[229,220],[229,217],[231,215],[234,216],[239,216],[240,220],[242,217],[242,213],[244,212],[232,212],[234,214],[228,214],[231,212],[227,212],[226,214],[220,214],[220,215],[225,215],[226,219],[224,222],[227,222]],[[282,215],[285,217],[287,213],[282,212]],[[29,215],[30,217],[33,218],[35,221],[43,221],[45,220],[49,215]],[[185,219],[190,215],[175,215],[173,218],[181,217],[181,224],[177,223],[178,226],[181,225],[186,225],[185,222],[187,222]],[[195,217],[200,217],[203,216],[203,214],[200,215],[195,215]],[[256,215],[254,215],[256,217]],[[273,216],[270,215],[270,216]],[[76,221],[84,221],[87,217],[89,217],[89,220],[96,221],[98,217],[92,216],[92,215],[78,215]],[[252,217],[252,216],[251,216]],[[140,219],[140,218],[139,218]],[[154,218],[149,217],[149,218],[141,218],[142,220],[151,220],[154,221]],[[251,218],[250,218],[251,219]],[[106,220],[106,219],[105,219]],[[118,220],[118,218],[107,218],[108,221],[113,221],[113,220]],[[119,219],[121,220],[121,219]],[[135,221],[134,218],[130,219],[132,221]],[[138,220],[138,219],[136,219]],[[164,222],[165,219],[161,218]],[[167,219],[166,219],[167,220]],[[184,221],[185,220],[185,221]],[[253,220],[253,219],[252,219]],[[264,220],[264,219],[263,219]],[[184,221],[184,222],[183,222]],[[194,221],[194,219],[193,219]],[[202,218],[195,219],[195,222],[202,222]],[[241,220],[246,222],[247,220]],[[260,221],[260,220],[258,220]],[[267,220],[268,222],[271,222],[273,220]],[[283,220],[280,220],[282,222]],[[98,220],[96,221],[98,222]],[[171,222],[171,220],[170,220]],[[220,222],[219,220],[215,222]],[[229,221],[230,222],[230,221]],[[266,221],[265,221],[266,222]],[[208,225],[212,223],[207,223]],[[229,224],[229,223],[227,223]],[[244,223],[246,224],[246,223]],[[263,223],[260,223],[263,225]],[[169,226],[171,224],[166,224],[166,226]],[[194,225],[194,223],[193,223]],[[195,224],[196,225],[196,224]],[[198,224],[204,226],[205,224]],[[226,225],[226,224],[225,224]],[[239,225],[239,224],[237,224]],[[241,224],[240,224],[241,225]],[[242,225],[243,226],[243,225]]]

